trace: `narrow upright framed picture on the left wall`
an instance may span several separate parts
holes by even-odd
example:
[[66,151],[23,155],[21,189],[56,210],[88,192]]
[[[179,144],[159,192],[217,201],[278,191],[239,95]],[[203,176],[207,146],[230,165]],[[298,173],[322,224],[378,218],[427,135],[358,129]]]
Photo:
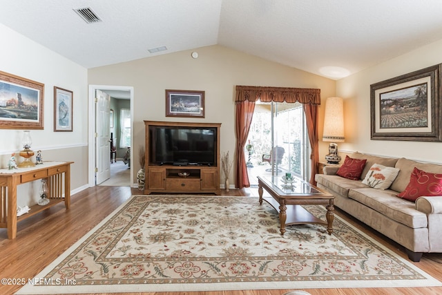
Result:
[[73,131],[73,92],[54,86],[54,131]]

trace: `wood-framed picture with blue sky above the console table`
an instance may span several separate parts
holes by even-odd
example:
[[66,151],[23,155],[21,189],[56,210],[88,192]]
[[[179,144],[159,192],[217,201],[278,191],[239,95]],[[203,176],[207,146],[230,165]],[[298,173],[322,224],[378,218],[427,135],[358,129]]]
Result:
[[44,84],[0,71],[0,129],[44,129]]

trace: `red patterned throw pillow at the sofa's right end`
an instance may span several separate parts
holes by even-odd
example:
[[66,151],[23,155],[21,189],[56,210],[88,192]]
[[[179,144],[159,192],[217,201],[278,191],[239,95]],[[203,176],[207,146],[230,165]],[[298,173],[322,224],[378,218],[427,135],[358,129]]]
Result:
[[398,197],[415,202],[421,196],[442,196],[442,174],[429,173],[414,167],[410,182]]

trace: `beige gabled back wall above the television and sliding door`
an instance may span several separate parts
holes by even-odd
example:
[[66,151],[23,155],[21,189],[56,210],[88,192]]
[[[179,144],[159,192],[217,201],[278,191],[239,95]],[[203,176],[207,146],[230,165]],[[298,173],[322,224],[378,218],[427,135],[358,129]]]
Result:
[[[192,51],[198,51],[200,57],[193,59]],[[140,169],[137,159],[139,147],[144,146],[143,120],[222,123],[220,149],[233,155],[236,144],[236,85],[320,88],[324,103],[327,97],[335,95],[332,79],[223,46],[207,46],[90,68],[88,81],[89,84],[134,88],[133,173]],[[166,89],[205,91],[204,119],[166,117]],[[323,113],[323,108],[320,108],[320,113]],[[233,184],[233,169],[230,183]]]

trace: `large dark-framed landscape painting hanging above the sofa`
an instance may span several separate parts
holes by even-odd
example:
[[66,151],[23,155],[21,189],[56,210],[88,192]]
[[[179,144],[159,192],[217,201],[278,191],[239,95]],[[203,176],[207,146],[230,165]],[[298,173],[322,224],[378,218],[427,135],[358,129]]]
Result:
[[370,85],[372,140],[441,142],[441,64]]

